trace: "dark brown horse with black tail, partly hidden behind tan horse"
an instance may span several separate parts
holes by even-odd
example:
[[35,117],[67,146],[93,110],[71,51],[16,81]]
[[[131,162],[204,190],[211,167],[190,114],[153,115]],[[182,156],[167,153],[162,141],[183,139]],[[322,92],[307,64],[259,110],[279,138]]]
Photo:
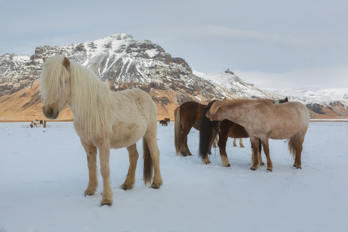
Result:
[[[226,98],[225,98],[226,99]],[[287,102],[287,97],[285,99],[280,99],[280,100],[272,100],[275,104],[279,104],[282,102]],[[201,122],[200,122],[200,132],[199,132],[199,151],[198,155],[200,158],[202,158],[203,163],[210,163],[208,153],[209,153],[209,141],[212,141],[216,135],[219,135],[219,150],[220,150],[220,157],[221,157],[221,162],[224,167],[230,167],[230,162],[227,157],[226,153],[226,144],[227,144],[227,139],[228,137],[231,138],[248,138],[249,135],[247,131],[245,130],[244,127],[238,125],[235,122],[229,121],[227,119],[222,120],[221,122],[218,121],[210,121],[206,116],[205,113],[210,109],[211,105],[213,104],[212,101],[208,104],[208,106],[203,110],[203,115],[201,117]],[[215,128],[219,128],[219,130],[216,132]],[[241,140],[240,140],[241,141]],[[239,142],[240,142],[239,141]],[[235,145],[235,141],[234,141]],[[243,144],[240,144],[242,147]],[[251,156],[251,162],[254,162],[254,150],[253,150],[253,145],[252,147],[252,156]],[[262,150],[262,145],[261,145],[261,140],[259,141],[259,151],[258,151],[258,157],[260,160],[260,165],[264,166],[264,162],[262,161],[261,157],[261,150]]]

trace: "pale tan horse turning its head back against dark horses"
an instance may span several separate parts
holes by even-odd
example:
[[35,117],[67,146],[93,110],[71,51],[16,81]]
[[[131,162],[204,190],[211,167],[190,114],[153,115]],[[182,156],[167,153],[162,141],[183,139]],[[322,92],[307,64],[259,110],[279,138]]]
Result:
[[[270,99],[224,99],[215,101],[205,113],[210,120],[230,120],[243,126],[250,135],[254,152],[259,140],[267,158],[267,170],[273,164],[269,156],[268,139],[287,139],[288,150],[294,158],[294,167],[301,168],[302,143],[309,125],[309,113],[300,102],[274,104]],[[217,131],[219,127],[215,127]],[[258,156],[254,157],[252,170],[259,168]]]

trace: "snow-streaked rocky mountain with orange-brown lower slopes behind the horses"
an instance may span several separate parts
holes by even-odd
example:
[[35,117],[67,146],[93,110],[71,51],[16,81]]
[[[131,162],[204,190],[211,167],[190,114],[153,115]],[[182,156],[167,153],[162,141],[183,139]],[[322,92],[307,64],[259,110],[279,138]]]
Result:
[[[91,69],[113,91],[134,87],[143,89],[156,102],[158,119],[173,119],[175,107],[187,101],[206,104],[223,97],[285,97],[249,84],[229,70],[210,75],[194,72],[184,59],[172,57],[149,40],[136,40],[127,34],[112,34],[78,44],[37,47],[32,56],[0,56],[0,120],[44,118],[38,79],[42,58],[52,55],[67,56]],[[342,104],[343,108],[347,106],[346,103]],[[335,110],[337,105],[331,106],[333,114],[330,117],[345,115],[341,106],[341,114]],[[310,109],[313,118],[325,117],[321,107],[326,106],[318,104],[315,109]],[[69,109],[60,119],[72,119]]]

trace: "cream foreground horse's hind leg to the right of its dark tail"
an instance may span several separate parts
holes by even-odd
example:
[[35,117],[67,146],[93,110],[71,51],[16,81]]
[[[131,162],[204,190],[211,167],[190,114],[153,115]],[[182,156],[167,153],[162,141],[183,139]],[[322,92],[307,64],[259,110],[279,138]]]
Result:
[[153,189],[159,189],[162,185],[162,177],[159,169],[159,149],[157,145],[157,126],[153,126],[152,128],[148,127],[147,132],[144,135],[145,141],[150,150],[150,156],[153,166],[153,181],[151,187]]

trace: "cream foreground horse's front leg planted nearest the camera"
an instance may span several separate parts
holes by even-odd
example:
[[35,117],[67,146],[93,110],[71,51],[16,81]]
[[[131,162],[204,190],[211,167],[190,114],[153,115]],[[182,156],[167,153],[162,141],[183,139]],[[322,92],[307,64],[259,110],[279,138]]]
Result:
[[[105,139],[107,140],[107,139]],[[100,173],[103,177],[103,193],[101,205],[112,205],[112,191],[110,186],[110,142],[103,141],[98,145],[100,159]]]

